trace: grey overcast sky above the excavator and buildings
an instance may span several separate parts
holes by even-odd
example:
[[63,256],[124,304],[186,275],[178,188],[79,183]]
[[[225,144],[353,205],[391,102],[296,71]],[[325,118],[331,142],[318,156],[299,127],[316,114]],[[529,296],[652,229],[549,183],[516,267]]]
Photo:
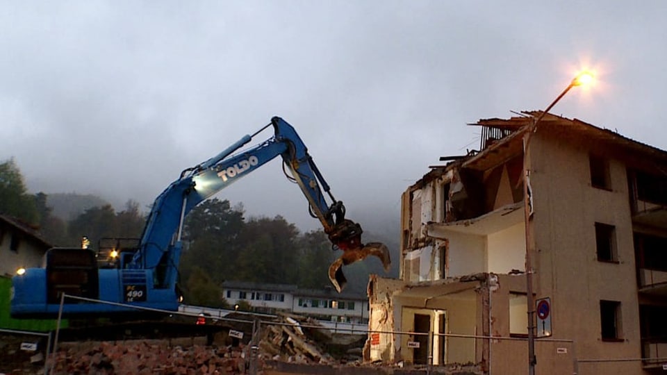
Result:
[[[667,149],[665,15],[667,1],[0,1],[0,160],[31,192],[147,206],[279,115],[350,218],[398,215],[439,156],[479,148],[467,123],[543,109],[582,68],[595,85],[552,113]],[[278,160],[217,197],[318,226]]]

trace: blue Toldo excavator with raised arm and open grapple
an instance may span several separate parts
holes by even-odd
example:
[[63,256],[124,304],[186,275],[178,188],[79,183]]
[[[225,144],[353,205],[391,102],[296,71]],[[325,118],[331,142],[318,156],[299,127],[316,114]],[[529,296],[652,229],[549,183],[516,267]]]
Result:
[[[274,128],[271,138],[239,151],[269,126]],[[332,247],[343,251],[329,267],[334,288],[340,292],[347,282],[343,265],[369,255],[379,257],[388,269],[387,247],[379,242],[361,242],[361,226],[345,218],[343,202],[331,194],[295,129],[280,117],[273,117],[256,133],[245,135],[204,163],[183,170],[155,200],[138,242],[111,251],[113,262],[100,265],[91,249],[49,249],[42,267],[28,268],[13,276],[10,314],[21,318],[136,313],[137,309],[131,306],[178,310],[181,295],[176,283],[186,215],[201,201],[277,156],[282,157],[288,178],[299,185],[311,216],[320,220]]]

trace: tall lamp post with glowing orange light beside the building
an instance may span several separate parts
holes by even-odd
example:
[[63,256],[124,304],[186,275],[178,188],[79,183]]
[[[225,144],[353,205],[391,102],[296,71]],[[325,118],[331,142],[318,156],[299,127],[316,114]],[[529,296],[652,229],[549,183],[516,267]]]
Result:
[[530,249],[530,228],[529,220],[531,214],[531,197],[528,190],[528,183],[530,178],[530,170],[528,169],[528,144],[532,138],[533,133],[537,131],[537,125],[540,123],[544,115],[546,115],[553,106],[561,100],[565,94],[570,91],[571,88],[575,86],[584,85],[589,83],[593,78],[593,75],[590,72],[582,72],[578,74],[568,87],[559,94],[559,96],[552,101],[552,103],[547,106],[545,110],[536,118],[534,121],[529,124],[526,132],[523,135],[523,213],[524,213],[524,222],[525,222],[525,231],[526,231],[526,303],[528,310],[528,374],[535,374],[535,365],[537,364],[537,358],[535,356],[535,299],[533,296],[533,265],[532,265],[532,250]]

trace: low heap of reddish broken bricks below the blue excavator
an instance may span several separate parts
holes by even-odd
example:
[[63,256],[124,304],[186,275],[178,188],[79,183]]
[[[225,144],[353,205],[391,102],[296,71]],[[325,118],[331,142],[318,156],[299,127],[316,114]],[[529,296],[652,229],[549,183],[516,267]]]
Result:
[[58,351],[52,374],[245,374],[245,348],[164,342],[101,342],[84,350]]

